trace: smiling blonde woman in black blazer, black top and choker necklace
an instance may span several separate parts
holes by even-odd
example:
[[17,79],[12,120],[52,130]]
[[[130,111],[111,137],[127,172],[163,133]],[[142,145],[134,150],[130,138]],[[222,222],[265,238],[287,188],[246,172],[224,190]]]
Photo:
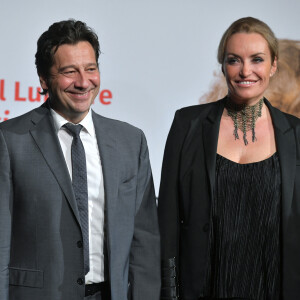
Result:
[[158,212],[162,299],[299,299],[300,120],[264,98],[278,46],[260,20],[224,33],[228,94],[176,112]]

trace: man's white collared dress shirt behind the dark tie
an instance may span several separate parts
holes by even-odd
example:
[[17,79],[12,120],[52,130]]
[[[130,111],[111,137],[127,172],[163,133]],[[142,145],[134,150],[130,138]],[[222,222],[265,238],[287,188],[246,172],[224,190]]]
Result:
[[[51,109],[54,126],[72,179],[71,145],[73,136],[63,127],[68,121]],[[89,256],[90,271],[86,284],[98,283],[104,278],[104,184],[100,153],[91,110],[79,123],[83,126],[80,138],[86,156],[88,209],[89,209]]]

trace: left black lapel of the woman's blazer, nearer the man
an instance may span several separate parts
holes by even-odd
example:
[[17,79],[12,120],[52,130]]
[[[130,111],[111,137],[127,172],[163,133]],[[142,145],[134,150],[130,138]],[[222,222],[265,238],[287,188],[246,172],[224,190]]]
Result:
[[[224,98],[225,99],[225,98]],[[215,186],[216,153],[220,129],[221,116],[224,110],[224,99],[217,102],[203,124],[203,147],[206,159],[206,168],[210,183],[210,193],[213,196]]]

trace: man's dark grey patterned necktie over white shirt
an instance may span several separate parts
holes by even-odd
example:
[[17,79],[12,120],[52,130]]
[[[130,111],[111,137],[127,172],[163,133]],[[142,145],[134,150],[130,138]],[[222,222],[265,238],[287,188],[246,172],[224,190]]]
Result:
[[88,213],[88,191],[87,191],[87,175],[86,160],[82,141],[80,139],[80,131],[82,125],[74,125],[67,123],[64,125],[73,135],[71,153],[72,153],[72,185],[77,200],[80,223],[83,236],[83,257],[85,275],[90,270],[89,261],[89,213]]

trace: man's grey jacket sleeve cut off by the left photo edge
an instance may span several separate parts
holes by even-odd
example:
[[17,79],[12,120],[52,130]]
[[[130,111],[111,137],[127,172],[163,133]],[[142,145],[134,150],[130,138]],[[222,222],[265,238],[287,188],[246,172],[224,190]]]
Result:
[[8,149],[0,129],[0,299],[9,300],[12,183]]

